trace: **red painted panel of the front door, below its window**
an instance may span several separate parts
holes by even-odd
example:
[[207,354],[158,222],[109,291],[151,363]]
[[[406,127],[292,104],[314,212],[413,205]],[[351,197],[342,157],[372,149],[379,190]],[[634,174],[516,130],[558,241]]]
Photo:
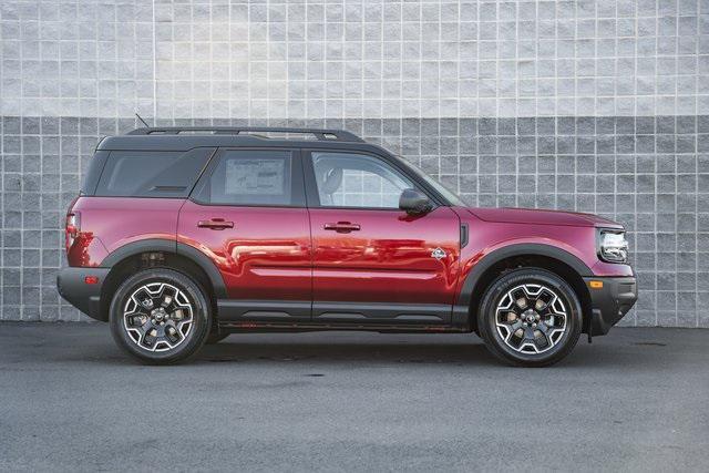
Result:
[[[401,210],[312,208],[314,300],[453,304],[460,220],[449,207],[410,217]],[[326,224],[359,230],[338,233]],[[442,259],[431,257],[435,248]]]

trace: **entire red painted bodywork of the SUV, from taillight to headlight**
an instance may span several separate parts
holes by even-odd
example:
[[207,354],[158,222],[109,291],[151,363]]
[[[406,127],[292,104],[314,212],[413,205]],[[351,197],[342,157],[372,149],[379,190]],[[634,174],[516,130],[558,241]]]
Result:
[[[203,206],[176,198],[80,197],[71,208],[81,230],[68,248],[72,267],[100,267],[112,251],[148,238],[189,245],[218,268],[230,299],[361,301],[453,306],[462,281],[485,256],[507,245],[561,248],[596,276],[631,276],[628,265],[596,255],[586,214],[438,207],[400,210]],[[232,222],[233,228],[201,227]],[[219,220],[222,219],[222,220]],[[470,240],[460,248],[460,224]],[[326,229],[326,224],[359,229]],[[445,257],[432,251],[441,248]]]

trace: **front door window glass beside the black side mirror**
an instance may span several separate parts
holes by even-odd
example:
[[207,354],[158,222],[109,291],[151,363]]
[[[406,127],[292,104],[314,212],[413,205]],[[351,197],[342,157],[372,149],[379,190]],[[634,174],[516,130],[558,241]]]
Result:
[[382,160],[364,154],[312,152],[321,207],[399,208],[413,183]]

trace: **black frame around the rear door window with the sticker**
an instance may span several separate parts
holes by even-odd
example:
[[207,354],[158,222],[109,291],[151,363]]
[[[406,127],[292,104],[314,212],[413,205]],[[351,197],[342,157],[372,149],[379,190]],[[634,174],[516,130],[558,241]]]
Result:
[[[290,152],[290,195],[294,204],[290,205],[274,205],[274,204],[214,204],[212,202],[202,200],[197,197],[197,189],[201,188],[202,184],[212,178],[212,173],[219,165],[224,155],[230,151],[289,151]],[[305,179],[302,176],[302,156],[301,152],[298,147],[290,146],[223,146],[218,147],[209,163],[204,168],[199,178],[195,183],[192,191],[189,191],[189,196],[187,198],[195,204],[209,206],[209,207],[266,207],[266,208],[306,208],[306,193],[305,193]]]

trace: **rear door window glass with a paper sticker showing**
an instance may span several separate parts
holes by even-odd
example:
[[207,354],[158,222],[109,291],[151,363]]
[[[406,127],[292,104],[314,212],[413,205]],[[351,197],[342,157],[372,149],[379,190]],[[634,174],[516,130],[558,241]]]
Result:
[[300,206],[301,178],[294,179],[289,150],[225,150],[195,193],[203,204]]

